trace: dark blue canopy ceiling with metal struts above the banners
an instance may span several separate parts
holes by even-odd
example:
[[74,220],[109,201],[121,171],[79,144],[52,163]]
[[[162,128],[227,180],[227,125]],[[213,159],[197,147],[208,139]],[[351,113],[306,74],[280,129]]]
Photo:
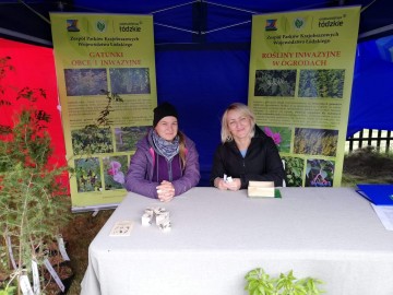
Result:
[[252,14],[341,5],[361,5],[359,40],[392,34],[392,0],[0,0],[0,36],[51,47],[49,12],[141,13],[156,45],[249,43]]

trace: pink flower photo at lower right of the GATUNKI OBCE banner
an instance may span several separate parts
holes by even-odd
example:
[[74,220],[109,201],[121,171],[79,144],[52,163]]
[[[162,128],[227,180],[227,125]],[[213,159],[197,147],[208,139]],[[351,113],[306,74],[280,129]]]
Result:
[[105,190],[122,189],[128,169],[128,157],[109,156],[103,158]]

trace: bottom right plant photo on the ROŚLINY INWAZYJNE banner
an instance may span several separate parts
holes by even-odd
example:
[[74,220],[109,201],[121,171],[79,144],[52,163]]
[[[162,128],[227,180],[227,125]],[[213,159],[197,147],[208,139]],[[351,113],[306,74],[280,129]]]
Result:
[[333,187],[334,162],[308,160],[305,187]]

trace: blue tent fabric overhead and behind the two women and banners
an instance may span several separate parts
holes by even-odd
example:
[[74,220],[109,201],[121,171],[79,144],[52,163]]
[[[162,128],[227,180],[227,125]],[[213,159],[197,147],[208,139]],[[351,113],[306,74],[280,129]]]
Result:
[[180,129],[196,143],[201,186],[207,185],[224,109],[247,104],[253,14],[361,5],[347,135],[393,130],[392,0],[36,0],[25,1],[28,8],[21,2],[0,0],[0,36],[47,47],[50,11],[154,15],[158,103],[177,106]]

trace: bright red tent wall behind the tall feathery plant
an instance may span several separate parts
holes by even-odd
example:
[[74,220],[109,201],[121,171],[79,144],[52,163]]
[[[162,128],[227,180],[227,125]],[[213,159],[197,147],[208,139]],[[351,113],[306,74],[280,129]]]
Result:
[[[34,104],[50,116],[47,131],[51,137],[53,155],[49,164],[67,165],[52,49],[0,38],[0,58],[4,57],[10,57],[12,69],[5,69],[5,75],[0,80],[3,91],[3,97],[0,98],[12,102],[12,106],[2,106],[0,125],[12,126],[15,111],[28,103],[26,99],[16,99],[19,91],[24,87],[35,91],[43,88],[46,99],[38,99]],[[67,175],[61,182],[69,187]]]

